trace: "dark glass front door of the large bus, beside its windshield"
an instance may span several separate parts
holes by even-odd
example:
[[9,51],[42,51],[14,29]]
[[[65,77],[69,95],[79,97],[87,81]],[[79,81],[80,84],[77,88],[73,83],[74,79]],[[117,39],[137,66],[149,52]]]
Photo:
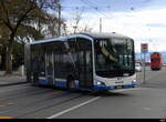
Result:
[[87,39],[77,38],[79,80],[82,88],[92,85],[92,42]]

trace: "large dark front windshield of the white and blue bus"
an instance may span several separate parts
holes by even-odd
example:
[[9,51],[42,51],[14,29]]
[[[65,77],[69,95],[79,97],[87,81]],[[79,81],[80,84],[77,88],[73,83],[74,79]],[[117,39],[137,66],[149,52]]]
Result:
[[105,78],[134,74],[134,41],[131,39],[96,39],[95,70]]

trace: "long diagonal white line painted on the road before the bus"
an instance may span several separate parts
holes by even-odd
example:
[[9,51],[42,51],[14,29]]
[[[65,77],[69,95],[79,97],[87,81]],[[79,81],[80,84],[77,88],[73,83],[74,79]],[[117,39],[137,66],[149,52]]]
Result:
[[83,102],[83,103],[81,103],[81,104],[77,104],[77,105],[75,105],[75,106],[72,106],[72,108],[70,108],[70,109],[68,109],[68,110],[64,110],[64,111],[59,112],[59,113],[55,113],[54,115],[51,115],[51,116],[49,116],[49,118],[46,118],[46,119],[54,119],[54,118],[58,118],[58,116],[60,116],[60,115],[62,115],[62,114],[64,114],[64,113],[66,113],[66,112],[70,112],[70,111],[72,111],[72,110],[75,110],[75,109],[77,109],[77,108],[80,108],[80,106],[83,106],[83,105],[85,105],[85,104],[89,104],[89,103],[91,103],[91,102],[93,102],[93,101],[95,101],[95,100],[97,100],[97,99],[100,99],[100,98],[101,98],[101,96],[93,98],[93,99],[91,99],[91,100],[89,100],[89,101],[85,101],[85,102]]

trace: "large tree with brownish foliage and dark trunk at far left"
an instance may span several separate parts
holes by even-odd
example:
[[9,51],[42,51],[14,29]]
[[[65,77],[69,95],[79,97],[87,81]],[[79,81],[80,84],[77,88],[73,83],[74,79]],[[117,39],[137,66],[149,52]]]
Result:
[[[39,20],[39,31],[41,31],[41,20],[46,18],[45,10],[56,9],[59,0],[0,0],[0,24],[8,30],[6,40],[6,73],[12,73],[12,50],[13,41],[22,24],[32,24]],[[39,19],[40,18],[40,19]]]

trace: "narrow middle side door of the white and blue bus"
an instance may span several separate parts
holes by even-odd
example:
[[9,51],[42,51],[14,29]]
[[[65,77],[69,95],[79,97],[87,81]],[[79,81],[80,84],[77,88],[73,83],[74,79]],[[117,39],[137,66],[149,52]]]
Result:
[[46,53],[46,80],[49,85],[53,85],[53,54]]

